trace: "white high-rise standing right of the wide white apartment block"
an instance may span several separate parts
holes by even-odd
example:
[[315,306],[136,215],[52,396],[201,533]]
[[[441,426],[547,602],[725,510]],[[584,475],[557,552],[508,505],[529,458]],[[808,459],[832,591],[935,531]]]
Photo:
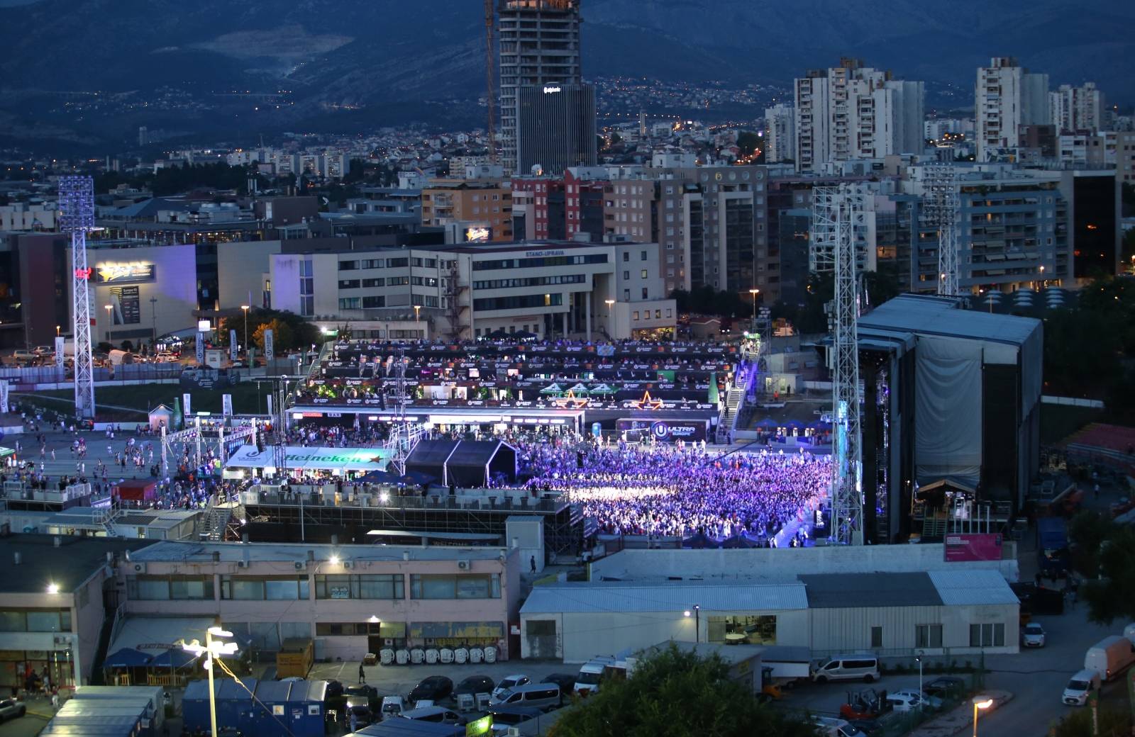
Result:
[[977,161],[993,161],[1020,145],[1020,126],[1048,125],[1049,75],[1031,74],[1012,57],[995,57],[977,69],[974,110]]

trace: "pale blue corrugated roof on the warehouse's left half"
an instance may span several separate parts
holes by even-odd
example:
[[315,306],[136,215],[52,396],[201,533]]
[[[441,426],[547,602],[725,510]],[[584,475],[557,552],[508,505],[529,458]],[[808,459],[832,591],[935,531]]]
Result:
[[657,586],[536,586],[521,613],[588,613],[636,611],[684,611],[699,605],[712,611],[777,611],[807,609],[804,584],[768,585],[690,585]]

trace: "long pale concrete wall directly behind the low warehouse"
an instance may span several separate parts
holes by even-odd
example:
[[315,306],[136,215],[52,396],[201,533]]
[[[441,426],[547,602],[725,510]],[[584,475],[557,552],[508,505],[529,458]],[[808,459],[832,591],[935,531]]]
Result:
[[859,545],[816,548],[758,548],[753,550],[623,550],[591,564],[591,579],[701,576],[705,579],[796,576],[798,574],[856,571],[998,570],[1017,581],[1017,560],[947,564],[941,543],[919,545]]

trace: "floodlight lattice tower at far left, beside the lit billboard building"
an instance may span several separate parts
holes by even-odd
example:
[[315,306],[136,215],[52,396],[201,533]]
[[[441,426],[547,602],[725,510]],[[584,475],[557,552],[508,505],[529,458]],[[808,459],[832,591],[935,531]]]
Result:
[[91,269],[86,234],[94,227],[94,179],[59,178],[59,229],[72,237],[72,315],[75,330],[75,416],[94,417],[94,372],[91,366]]

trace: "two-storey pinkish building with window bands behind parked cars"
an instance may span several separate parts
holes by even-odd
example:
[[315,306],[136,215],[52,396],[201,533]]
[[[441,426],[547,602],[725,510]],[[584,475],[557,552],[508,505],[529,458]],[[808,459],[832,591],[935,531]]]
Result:
[[[153,646],[155,632],[165,643],[200,637],[219,621],[259,653],[300,638],[314,642],[316,659],[461,645],[494,646],[505,660],[520,556],[519,547],[159,542],[118,568],[126,619],[111,651]],[[202,624],[176,632],[171,604]]]

